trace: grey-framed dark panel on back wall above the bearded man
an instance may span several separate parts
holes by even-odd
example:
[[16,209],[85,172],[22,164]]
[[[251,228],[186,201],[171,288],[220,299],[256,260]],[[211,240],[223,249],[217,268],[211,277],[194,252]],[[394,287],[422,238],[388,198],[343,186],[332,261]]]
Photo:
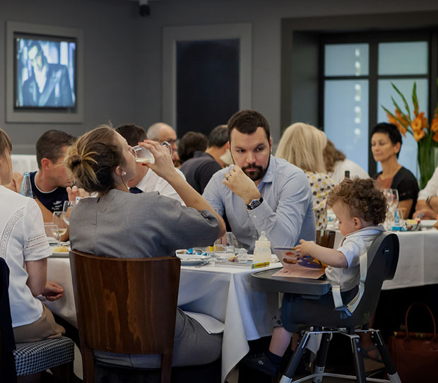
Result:
[[208,133],[251,107],[251,24],[163,29],[162,120]]

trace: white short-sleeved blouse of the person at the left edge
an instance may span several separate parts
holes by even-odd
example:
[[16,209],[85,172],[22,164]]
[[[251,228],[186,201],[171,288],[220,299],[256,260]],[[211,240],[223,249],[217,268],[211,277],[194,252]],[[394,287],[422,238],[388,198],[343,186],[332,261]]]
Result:
[[51,251],[42,213],[33,199],[0,186],[0,206],[0,257],[9,267],[12,326],[24,326],[42,315],[42,302],[26,285],[25,261],[47,258]]

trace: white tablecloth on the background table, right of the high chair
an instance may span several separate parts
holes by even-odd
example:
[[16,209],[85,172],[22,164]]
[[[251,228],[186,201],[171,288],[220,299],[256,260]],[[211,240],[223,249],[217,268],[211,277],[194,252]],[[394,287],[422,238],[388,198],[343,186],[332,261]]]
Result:
[[[396,275],[384,281],[382,290],[438,283],[438,230],[396,232],[400,253]],[[335,249],[343,236],[336,230]]]

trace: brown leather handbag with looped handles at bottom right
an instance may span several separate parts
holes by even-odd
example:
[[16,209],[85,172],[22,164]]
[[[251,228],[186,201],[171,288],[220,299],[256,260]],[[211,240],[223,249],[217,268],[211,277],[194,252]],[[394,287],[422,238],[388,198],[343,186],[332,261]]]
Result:
[[[408,314],[414,305],[422,305],[432,317],[434,333],[410,332]],[[415,302],[405,317],[406,331],[394,331],[389,337],[389,353],[403,383],[438,381],[438,338],[434,315],[427,305]]]

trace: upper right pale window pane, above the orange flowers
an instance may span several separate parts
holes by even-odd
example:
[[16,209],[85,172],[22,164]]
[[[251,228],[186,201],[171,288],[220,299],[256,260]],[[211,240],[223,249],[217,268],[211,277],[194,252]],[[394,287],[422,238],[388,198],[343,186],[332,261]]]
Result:
[[427,74],[427,42],[381,42],[379,75]]

